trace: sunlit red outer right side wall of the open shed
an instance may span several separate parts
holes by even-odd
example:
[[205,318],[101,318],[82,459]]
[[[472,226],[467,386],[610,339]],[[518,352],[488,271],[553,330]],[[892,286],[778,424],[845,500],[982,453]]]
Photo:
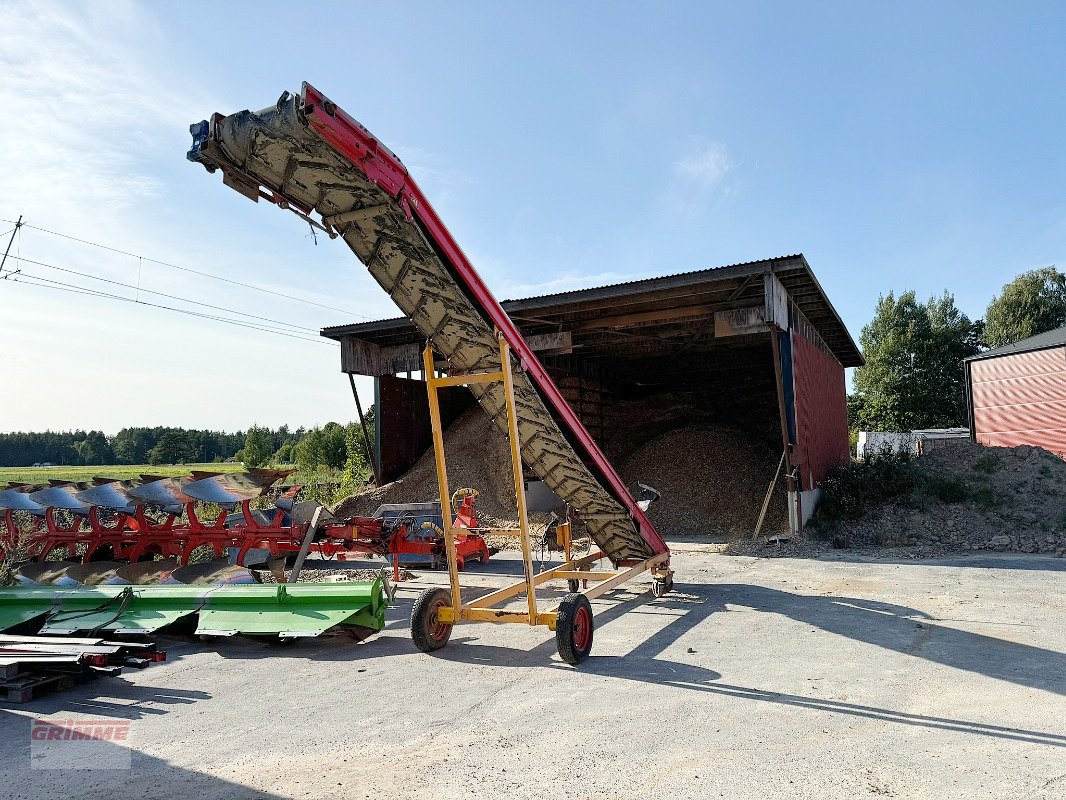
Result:
[[844,368],[793,331],[792,372],[797,438],[793,461],[806,491],[850,458]]

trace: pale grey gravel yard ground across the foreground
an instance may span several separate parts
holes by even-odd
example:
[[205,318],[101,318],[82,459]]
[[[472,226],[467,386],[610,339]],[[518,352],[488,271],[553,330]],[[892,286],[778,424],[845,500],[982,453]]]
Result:
[[[594,605],[592,658],[464,625],[415,650],[419,572],[360,644],[164,644],[166,663],[0,708],[12,800],[71,797],[1052,800],[1066,795],[1066,561],[724,558]],[[474,591],[513,558],[467,572]],[[505,575],[506,574],[506,575]],[[130,770],[31,769],[33,718],[131,722]]]

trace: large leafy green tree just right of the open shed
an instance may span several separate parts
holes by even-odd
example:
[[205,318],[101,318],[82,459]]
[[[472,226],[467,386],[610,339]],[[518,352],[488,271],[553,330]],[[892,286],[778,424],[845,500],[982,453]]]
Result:
[[849,398],[852,427],[874,431],[949,428],[966,417],[963,359],[980,350],[982,324],[944,292],[919,303],[915,292],[877,301],[859,342],[866,366]]

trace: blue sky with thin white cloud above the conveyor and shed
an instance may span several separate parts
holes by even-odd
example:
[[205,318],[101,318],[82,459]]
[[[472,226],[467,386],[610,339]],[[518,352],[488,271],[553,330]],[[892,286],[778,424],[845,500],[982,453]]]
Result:
[[1066,265],[1064,34],[1062,3],[0,0],[0,220],[35,226],[0,279],[0,431],[354,418],[316,332],[395,307],[184,158],[190,124],[304,80],[501,300],[804,253],[856,338],[888,291],[980,318]]

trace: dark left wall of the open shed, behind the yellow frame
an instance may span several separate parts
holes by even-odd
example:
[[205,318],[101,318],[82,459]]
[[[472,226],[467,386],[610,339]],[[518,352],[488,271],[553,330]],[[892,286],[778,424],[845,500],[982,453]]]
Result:
[[[433,444],[425,383],[382,375],[376,386],[377,459],[382,483],[394,481],[415,466]],[[447,428],[474,403],[465,386],[440,389],[440,422]]]

